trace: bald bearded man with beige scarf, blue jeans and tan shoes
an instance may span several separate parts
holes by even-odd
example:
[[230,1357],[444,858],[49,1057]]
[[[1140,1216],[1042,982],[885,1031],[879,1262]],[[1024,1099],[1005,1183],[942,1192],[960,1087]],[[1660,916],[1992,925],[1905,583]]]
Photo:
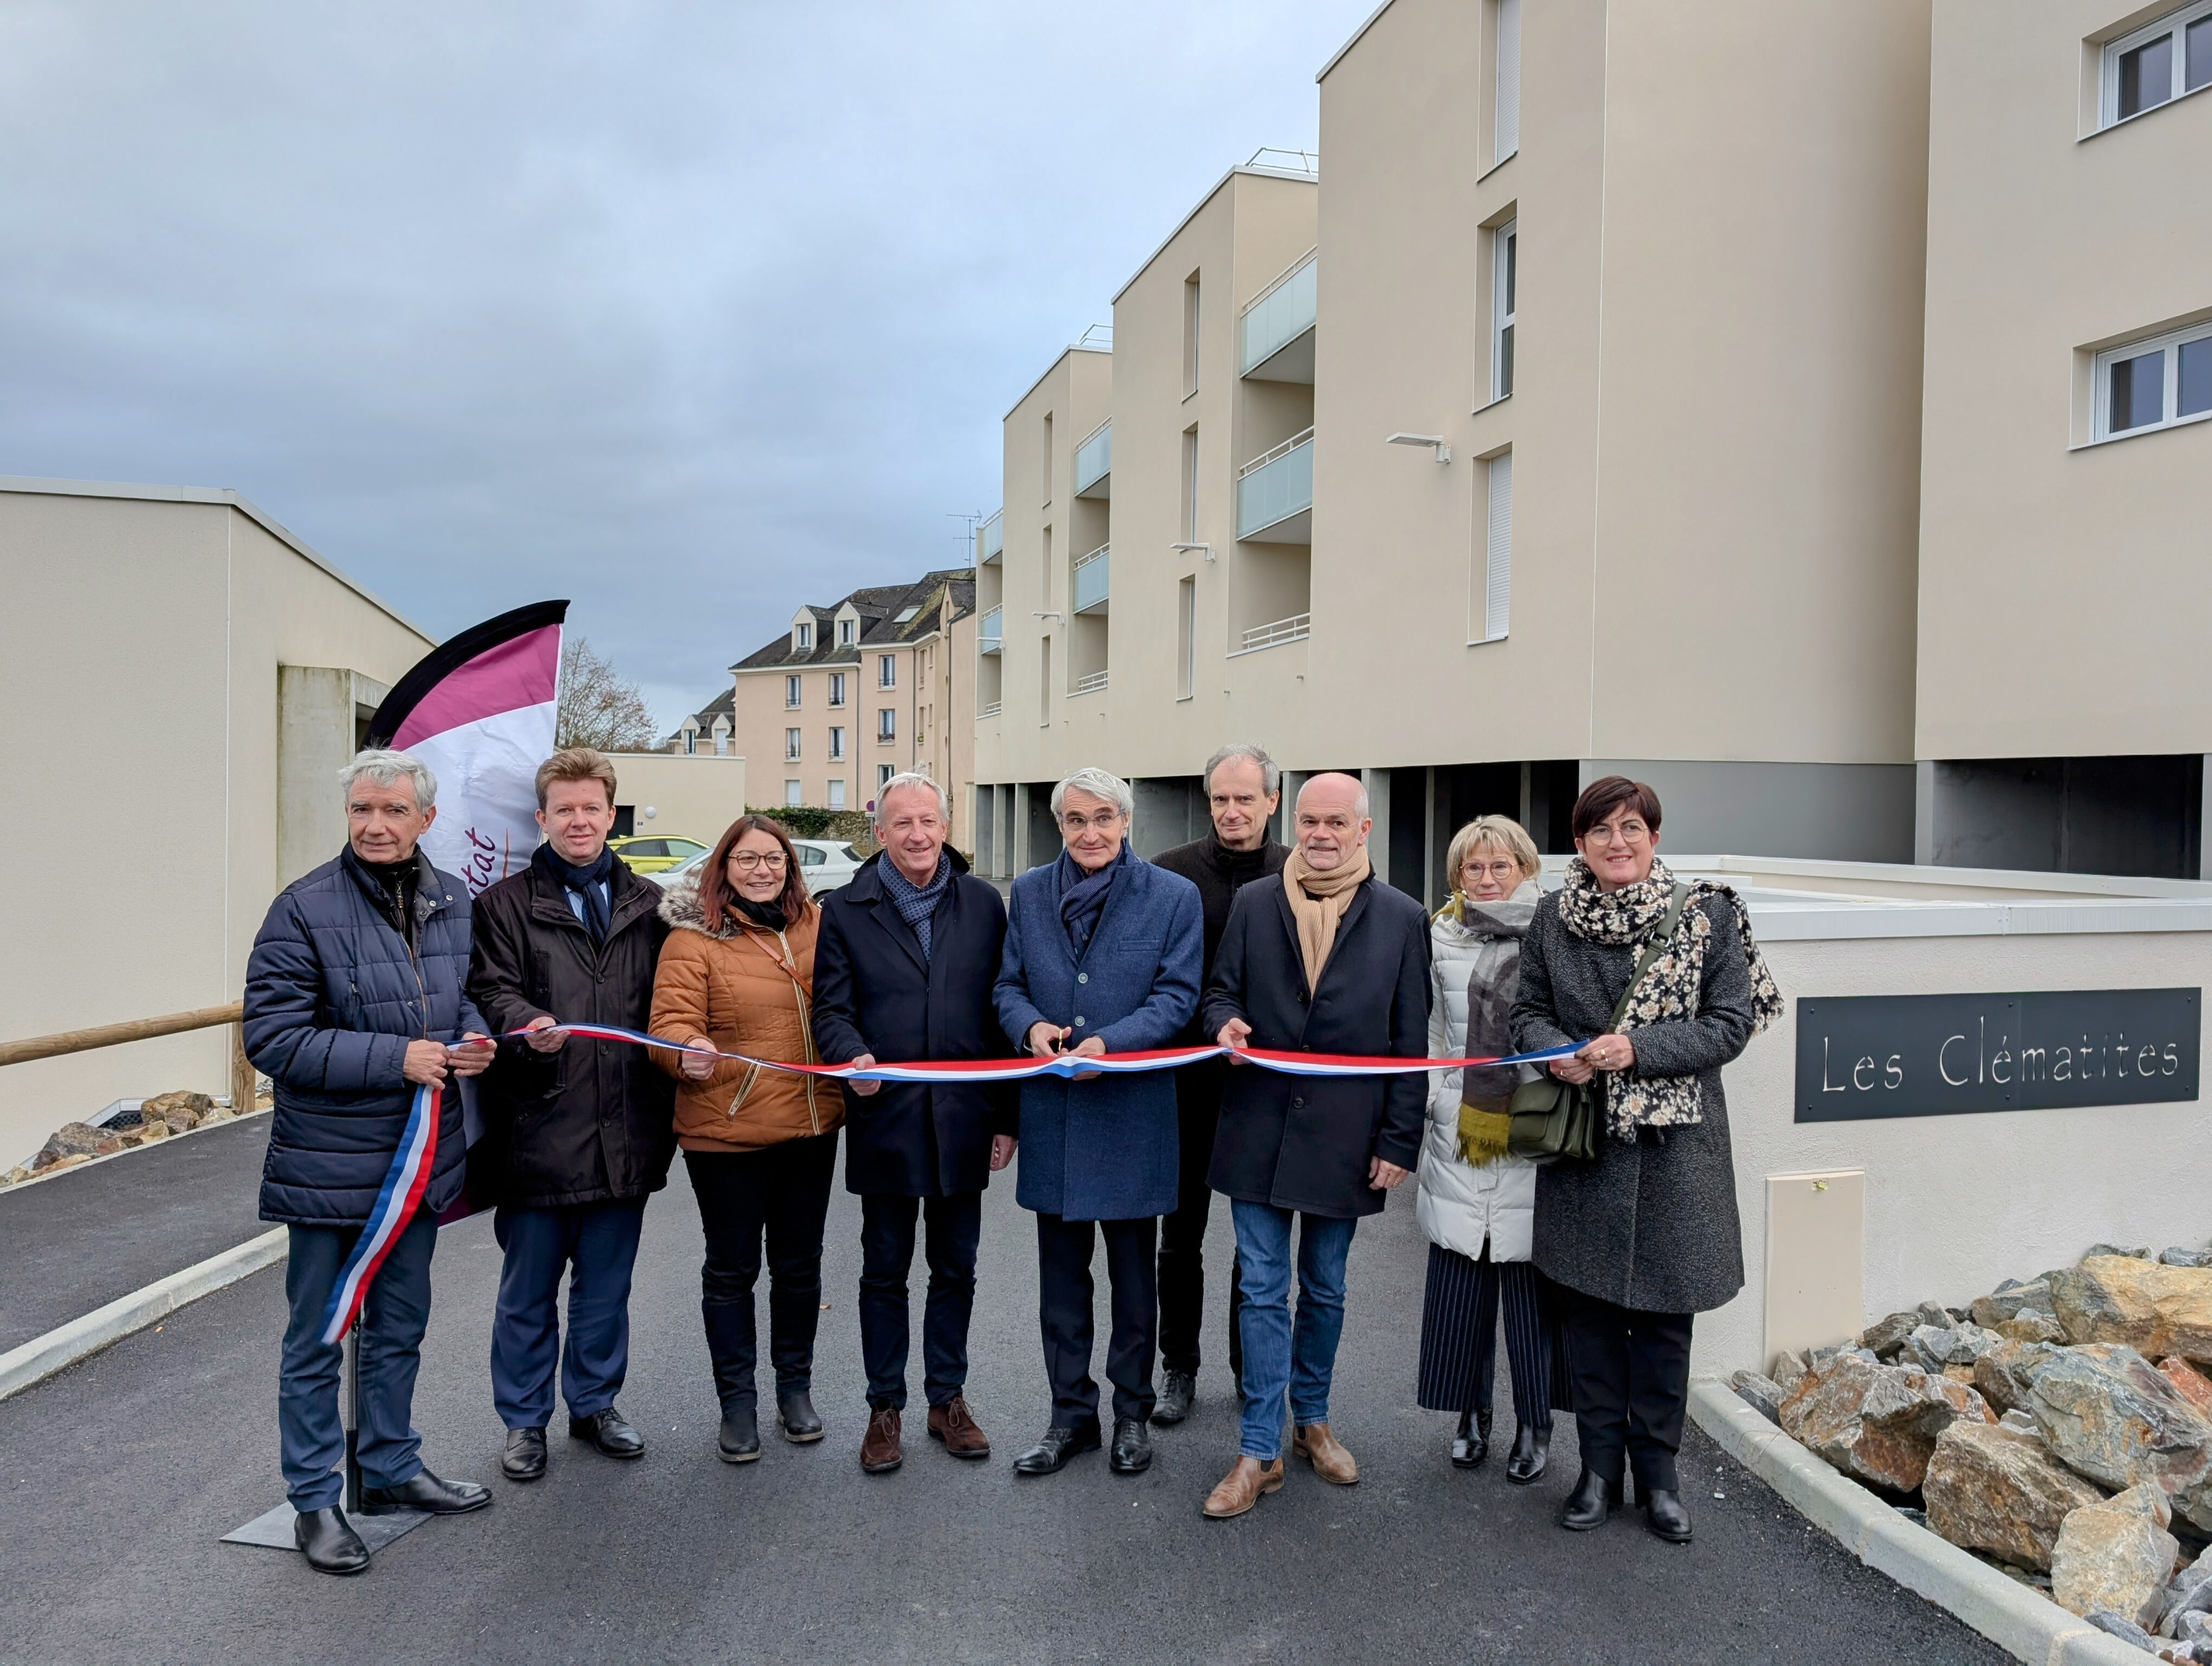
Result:
[[[1427,1058],[1429,918],[1367,861],[1367,792],[1316,774],[1298,792],[1283,872],[1237,894],[1206,1027],[1223,1047]],[[1206,1500],[1243,1516],[1283,1485],[1283,1403],[1292,1451],[1336,1485],[1360,1478],[1329,1434],[1329,1376],[1345,1327],[1345,1259],[1363,1215],[1420,1159],[1429,1086],[1402,1075],[1230,1073],[1210,1179],[1237,1217],[1243,1288],[1243,1440]],[[1298,1321],[1290,1319],[1290,1232],[1298,1226]]]

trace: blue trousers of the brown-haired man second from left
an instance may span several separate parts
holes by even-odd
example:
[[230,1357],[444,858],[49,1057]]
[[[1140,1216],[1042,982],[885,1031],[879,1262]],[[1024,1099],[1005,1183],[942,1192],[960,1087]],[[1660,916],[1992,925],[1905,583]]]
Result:
[[[509,1429],[553,1420],[560,1363],[568,1416],[597,1416],[630,1370],[630,1268],[646,1199],[502,1208],[491,1230],[507,1252],[491,1316],[491,1403]],[[568,1274],[568,1347],[560,1341],[560,1277]]]

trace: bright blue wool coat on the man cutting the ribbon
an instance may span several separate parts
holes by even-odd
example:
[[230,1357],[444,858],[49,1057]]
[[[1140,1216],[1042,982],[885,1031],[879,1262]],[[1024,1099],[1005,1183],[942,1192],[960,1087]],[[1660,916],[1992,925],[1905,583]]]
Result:
[[[1199,887],[1121,863],[1082,956],[1060,923],[1060,863],[1013,881],[998,1022],[1026,1051],[1033,1024],[1064,1024],[1108,1053],[1168,1047],[1199,1007],[1206,956]],[[1175,1077],[1168,1071],[1022,1082],[1015,1201],[1071,1221],[1133,1221],[1175,1210]]]

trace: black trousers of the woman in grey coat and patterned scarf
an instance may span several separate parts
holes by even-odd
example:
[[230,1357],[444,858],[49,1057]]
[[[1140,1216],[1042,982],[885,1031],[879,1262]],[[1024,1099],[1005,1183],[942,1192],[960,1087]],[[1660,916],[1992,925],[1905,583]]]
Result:
[[1566,1327],[1582,1467],[1606,1480],[1632,1469],[1637,1489],[1674,1491],[1681,1418],[1690,1409],[1690,1321],[1617,1308],[1553,1285]]

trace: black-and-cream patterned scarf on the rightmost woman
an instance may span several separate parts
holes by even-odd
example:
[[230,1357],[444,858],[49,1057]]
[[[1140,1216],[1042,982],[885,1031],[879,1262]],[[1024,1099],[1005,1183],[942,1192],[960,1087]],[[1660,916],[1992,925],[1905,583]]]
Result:
[[[1621,885],[1617,892],[1601,892],[1588,863],[1577,856],[1566,865],[1559,923],[1584,943],[1641,947],[1659,929],[1672,896],[1674,874],[1657,858],[1652,858],[1652,872],[1646,878]],[[1628,1011],[1621,1013],[1624,1031],[1637,1024],[1697,1018],[1705,978],[1705,945],[1712,940],[1712,920],[1703,905],[1712,896],[1725,896],[1736,909],[1736,931],[1743,936],[1743,960],[1752,980],[1752,1033],[1756,1035],[1783,1016],[1783,991],[1776,987],[1774,973],[1767,971],[1767,958],[1752,936],[1750,909],[1728,885],[1701,878],[1690,885],[1674,940],[1666,954],[1652,960],[1628,1002]],[[1606,1084],[1606,1126],[1617,1139],[1635,1139],[1637,1128],[1679,1128],[1703,1120],[1694,1075],[1630,1077],[1624,1071],[1608,1071],[1601,1080]]]

